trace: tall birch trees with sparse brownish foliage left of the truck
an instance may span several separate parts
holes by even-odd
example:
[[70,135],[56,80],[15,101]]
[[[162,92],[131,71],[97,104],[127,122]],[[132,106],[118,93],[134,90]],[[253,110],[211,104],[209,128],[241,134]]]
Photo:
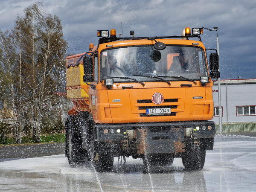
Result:
[[3,95],[15,111],[15,137],[20,138],[16,132],[29,125],[34,142],[39,142],[43,117],[56,115],[52,106],[58,98],[53,93],[63,86],[67,42],[61,21],[46,14],[41,3],[34,3],[1,37],[0,86],[5,87]]

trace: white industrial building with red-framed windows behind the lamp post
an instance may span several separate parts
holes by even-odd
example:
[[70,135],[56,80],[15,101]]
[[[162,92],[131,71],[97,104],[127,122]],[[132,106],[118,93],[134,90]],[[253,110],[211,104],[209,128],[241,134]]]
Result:
[[[212,87],[213,121],[218,123],[218,81]],[[221,80],[222,122],[256,122],[256,79]]]

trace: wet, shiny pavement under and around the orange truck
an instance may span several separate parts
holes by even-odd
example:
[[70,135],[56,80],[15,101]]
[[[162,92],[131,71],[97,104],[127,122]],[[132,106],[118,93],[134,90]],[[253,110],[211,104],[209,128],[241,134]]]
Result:
[[[145,173],[142,160],[115,161],[108,173],[88,164],[70,168],[64,155],[0,162],[0,190],[6,191],[255,191],[256,137],[221,136],[207,151],[204,169],[184,172],[180,158],[172,166]],[[98,178],[98,179],[97,179]]]

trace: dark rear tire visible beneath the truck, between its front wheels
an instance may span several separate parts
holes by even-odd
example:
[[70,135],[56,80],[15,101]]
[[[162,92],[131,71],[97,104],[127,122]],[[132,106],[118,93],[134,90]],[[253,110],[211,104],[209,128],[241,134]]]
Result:
[[144,166],[166,166],[172,165],[173,163],[173,154],[148,154],[146,157],[143,157]]

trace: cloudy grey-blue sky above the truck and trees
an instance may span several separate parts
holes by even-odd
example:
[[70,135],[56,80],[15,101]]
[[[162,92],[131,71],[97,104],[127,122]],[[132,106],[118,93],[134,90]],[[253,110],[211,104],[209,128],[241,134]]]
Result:
[[[221,79],[256,78],[255,0],[42,0],[44,10],[60,17],[68,53],[97,43],[96,30],[116,29],[124,36],[181,35],[185,27],[218,26]],[[0,29],[14,26],[17,15],[34,0],[0,0]],[[202,41],[216,48],[216,32]]]

